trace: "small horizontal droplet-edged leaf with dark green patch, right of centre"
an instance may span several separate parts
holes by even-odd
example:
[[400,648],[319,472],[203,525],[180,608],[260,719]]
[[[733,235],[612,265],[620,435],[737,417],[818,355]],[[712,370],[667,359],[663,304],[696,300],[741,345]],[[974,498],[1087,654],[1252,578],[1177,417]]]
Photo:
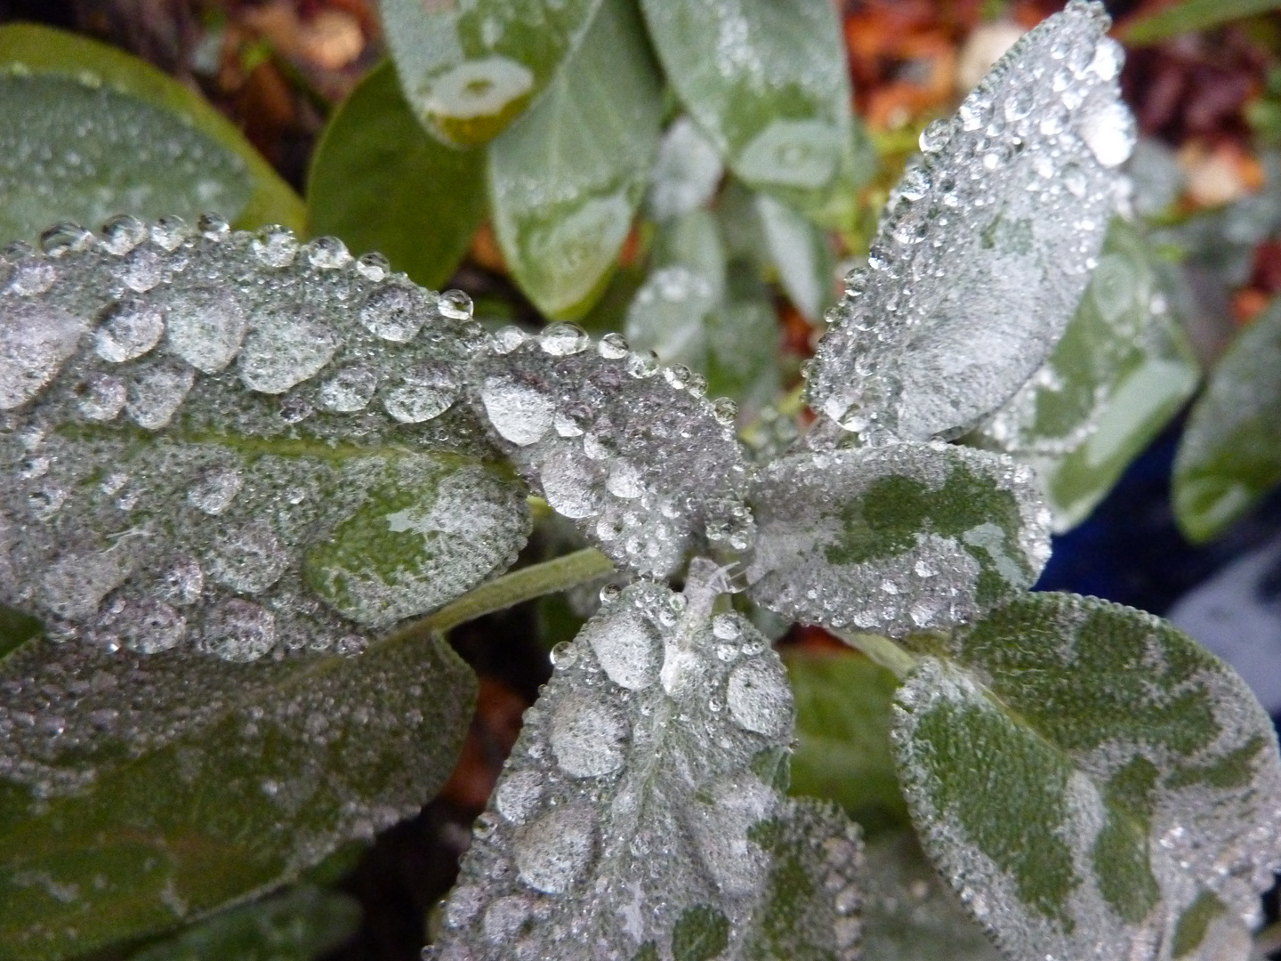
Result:
[[833,628],[959,624],[1030,587],[1049,557],[1031,470],[940,442],[776,460],[751,502],[752,598]]

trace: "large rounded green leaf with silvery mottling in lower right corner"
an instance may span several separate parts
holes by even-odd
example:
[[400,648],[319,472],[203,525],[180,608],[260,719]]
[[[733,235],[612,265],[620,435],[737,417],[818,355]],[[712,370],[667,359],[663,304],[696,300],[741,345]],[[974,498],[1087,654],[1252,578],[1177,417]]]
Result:
[[1281,862],[1281,759],[1231,668],[1075,595],[910,642],[893,737],[912,819],[1011,958],[1244,957],[1213,946],[1240,946]]

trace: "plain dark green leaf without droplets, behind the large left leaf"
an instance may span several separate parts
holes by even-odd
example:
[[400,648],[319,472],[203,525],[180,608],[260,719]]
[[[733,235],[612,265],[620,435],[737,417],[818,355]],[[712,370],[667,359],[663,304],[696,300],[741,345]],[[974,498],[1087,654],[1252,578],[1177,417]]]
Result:
[[330,117],[307,176],[313,234],[377,250],[425,287],[450,279],[484,206],[484,152],[427,136],[391,63],[370,70]]

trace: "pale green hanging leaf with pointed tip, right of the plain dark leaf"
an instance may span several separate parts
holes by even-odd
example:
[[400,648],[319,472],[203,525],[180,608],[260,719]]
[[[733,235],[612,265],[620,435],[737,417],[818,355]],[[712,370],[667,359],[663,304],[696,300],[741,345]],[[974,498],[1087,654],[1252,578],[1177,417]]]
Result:
[[628,0],[605,0],[542,103],[489,146],[489,202],[512,277],[548,316],[605,290],[658,149],[660,78]]

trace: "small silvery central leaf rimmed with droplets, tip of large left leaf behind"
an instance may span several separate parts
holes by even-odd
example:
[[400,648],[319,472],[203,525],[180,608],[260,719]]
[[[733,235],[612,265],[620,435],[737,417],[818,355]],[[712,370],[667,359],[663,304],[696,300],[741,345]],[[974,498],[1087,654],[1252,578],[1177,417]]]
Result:
[[473,401],[518,470],[615,564],[665,575],[698,545],[746,550],[747,466],[733,413],[685,368],[660,372],[617,334],[571,324],[494,334]]

